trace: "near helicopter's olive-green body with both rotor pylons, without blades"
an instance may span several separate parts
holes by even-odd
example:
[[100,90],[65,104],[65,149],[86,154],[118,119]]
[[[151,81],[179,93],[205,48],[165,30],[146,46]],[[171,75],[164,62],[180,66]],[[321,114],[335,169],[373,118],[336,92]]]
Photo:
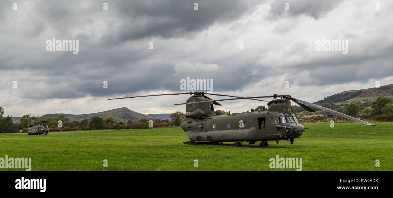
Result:
[[[205,101],[191,96],[187,102]],[[211,102],[186,106],[186,120],[180,124],[192,144],[197,142],[266,142],[291,140],[304,133],[304,127],[292,114],[290,100],[276,99],[268,102],[266,111],[222,114],[215,112]],[[185,143],[186,144],[186,143]]]

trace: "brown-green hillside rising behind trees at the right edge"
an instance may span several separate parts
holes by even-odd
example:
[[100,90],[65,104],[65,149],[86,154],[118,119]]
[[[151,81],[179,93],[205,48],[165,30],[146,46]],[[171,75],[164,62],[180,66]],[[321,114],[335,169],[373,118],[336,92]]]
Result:
[[[318,100],[316,103],[331,102],[338,105],[349,104],[353,101],[363,103],[364,101],[376,100],[376,98],[381,96],[388,96],[390,98],[393,98],[393,84],[380,86],[378,89],[373,87],[369,89],[343,91],[338,94],[327,96],[322,100]],[[348,102],[345,103],[345,101]]]

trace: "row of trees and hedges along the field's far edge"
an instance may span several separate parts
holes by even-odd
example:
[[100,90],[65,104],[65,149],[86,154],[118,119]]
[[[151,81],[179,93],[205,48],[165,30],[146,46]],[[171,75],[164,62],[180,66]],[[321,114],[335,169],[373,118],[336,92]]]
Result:
[[[334,111],[338,111],[354,118],[361,119],[372,119],[374,121],[379,122],[392,122],[393,121],[393,100],[389,97],[382,96],[376,99],[376,101],[372,102],[371,100],[365,101],[363,104],[360,102],[352,102],[349,105],[339,106],[330,102],[323,102],[322,104],[318,104],[323,107],[327,107]],[[258,106],[255,108],[255,111],[261,111],[265,109],[264,106]],[[295,114],[298,118],[301,118],[303,115],[310,114],[329,114],[325,111],[317,111],[317,112],[308,112],[303,111],[302,107],[292,105],[291,106],[292,113]],[[224,114],[228,114],[226,111],[222,111]],[[37,121],[40,119],[46,119],[45,117],[34,117],[31,114],[26,114],[22,118],[27,118],[26,120],[20,120],[19,123],[12,122],[12,116],[7,116],[3,118],[4,108],[0,107],[0,133],[27,133],[28,132],[28,124],[30,120],[28,118],[35,118]],[[85,131],[85,130],[96,130],[96,129],[148,129],[149,124],[152,124],[154,128],[160,127],[176,127],[179,126],[185,120],[185,114],[181,111],[176,111],[171,114],[171,120],[149,120],[142,118],[138,122],[134,122],[133,120],[127,120],[126,123],[117,122],[112,117],[109,118],[101,118],[101,117],[93,117],[89,120],[81,120],[78,121],[70,121],[66,116],[60,115],[59,117],[53,117],[46,119],[47,125],[49,127],[49,131]],[[326,119],[326,117],[319,118],[310,118],[310,119]],[[62,127],[60,128],[57,121],[62,121]]]

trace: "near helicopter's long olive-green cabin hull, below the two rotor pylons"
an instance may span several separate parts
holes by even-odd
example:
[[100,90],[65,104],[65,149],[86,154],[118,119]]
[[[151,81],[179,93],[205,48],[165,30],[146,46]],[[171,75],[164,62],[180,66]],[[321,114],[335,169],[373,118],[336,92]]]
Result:
[[187,118],[181,127],[192,142],[293,140],[304,133],[294,115],[257,111]]

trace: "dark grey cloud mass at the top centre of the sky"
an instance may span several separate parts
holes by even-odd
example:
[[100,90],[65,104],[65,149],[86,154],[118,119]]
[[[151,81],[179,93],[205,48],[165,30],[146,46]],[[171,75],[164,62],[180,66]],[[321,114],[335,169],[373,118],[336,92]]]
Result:
[[107,43],[119,44],[152,36],[178,38],[208,29],[214,23],[229,22],[260,1],[199,0],[136,1],[114,3],[121,25],[103,37]]

